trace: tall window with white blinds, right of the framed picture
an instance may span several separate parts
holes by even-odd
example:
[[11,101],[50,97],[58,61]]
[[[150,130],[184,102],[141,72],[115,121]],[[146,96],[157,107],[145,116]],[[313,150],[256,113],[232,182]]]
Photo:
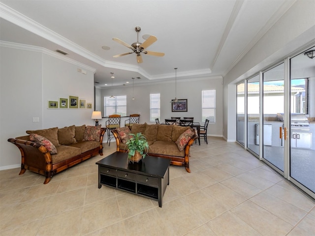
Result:
[[202,90],[201,93],[202,122],[216,123],[216,90]]

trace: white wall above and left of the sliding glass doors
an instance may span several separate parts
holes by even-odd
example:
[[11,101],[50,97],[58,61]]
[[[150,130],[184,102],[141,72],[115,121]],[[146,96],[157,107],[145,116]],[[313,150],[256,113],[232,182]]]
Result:
[[223,78],[223,137],[236,140],[236,83],[315,40],[315,1],[299,0]]

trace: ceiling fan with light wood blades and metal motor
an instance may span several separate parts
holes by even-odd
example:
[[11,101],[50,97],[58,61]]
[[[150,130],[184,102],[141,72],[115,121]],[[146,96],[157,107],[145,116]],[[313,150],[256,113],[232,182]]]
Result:
[[151,56],[156,56],[156,57],[163,57],[165,55],[164,53],[152,52],[152,51],[146,51],[145,50],[147,47],[149,47],[151,44],[153,44],[154,42],[156,42],[158,40],[156,36],[151,35],[146,41],[144,41],[143,43],[140,43],[139,42],[139,32],[140,32],[141,28],[139,26],[137,26],[134,28],[134,30],[136,30],[136,32],[137,32],[137,42],[132,43],[131,45],[125,43],[123,40],[120,40],[119,38],[113,38],[113,40],[115,42],[118,42],[118,43],[124,45],[125,47],[130,48],[133,52],[115,55],[115,56],[113,56],[113,58],[119,58],[122,56],[126,56],[129,54],[135,53],[137,55],[137,62],[142,63],[143,60],[142,60],[141,53],[148,54]]

